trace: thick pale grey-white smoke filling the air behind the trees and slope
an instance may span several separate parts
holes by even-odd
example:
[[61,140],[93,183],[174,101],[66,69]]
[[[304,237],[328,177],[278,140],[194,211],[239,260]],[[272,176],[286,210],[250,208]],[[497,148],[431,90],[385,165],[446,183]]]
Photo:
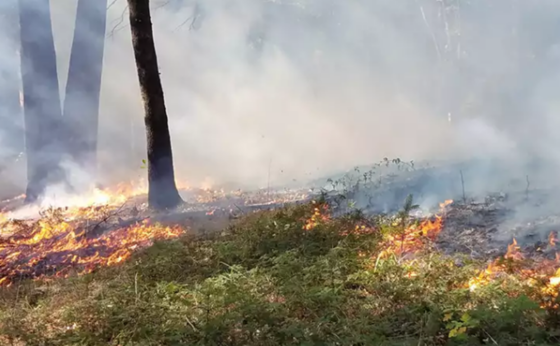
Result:
[[[62,91],[76,3],[51,1]],[[557,2],[152,3],[179,180],[276,185],[383,157],[483,158],[479,173],[499,159],[533,185],[558,173]],[[126,1],[108,16],[98,155],[114,183],[145,174],[145,133]],[[22,169],[5,181],[23,187]]]

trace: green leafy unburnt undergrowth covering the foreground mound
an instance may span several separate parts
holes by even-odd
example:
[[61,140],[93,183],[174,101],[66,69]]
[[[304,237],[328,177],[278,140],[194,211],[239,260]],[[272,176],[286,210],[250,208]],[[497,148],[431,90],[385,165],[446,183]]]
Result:
[[1,288],[0,344],[559,344],[555,310],[522,281],[471,292],[483,263],[429,247],[379,257],[398,225],[354,213],[305,229],[317,207],[256,213],[117,267]]

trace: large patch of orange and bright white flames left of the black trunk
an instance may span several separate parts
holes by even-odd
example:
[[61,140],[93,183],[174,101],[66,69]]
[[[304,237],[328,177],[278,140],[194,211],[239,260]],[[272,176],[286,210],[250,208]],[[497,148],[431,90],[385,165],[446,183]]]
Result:
[[12,219],[10,212],[0,214],[0,286],[25,278],[89,273],[96,267],[122,262],[154,240],[183,234],[180,227],[152,225],[149,219],[99,231],[115,216],[118,205],[143,191],[136,184],[93,189],[84,197],[66,200],[72,207],[40,211],[38,220]]

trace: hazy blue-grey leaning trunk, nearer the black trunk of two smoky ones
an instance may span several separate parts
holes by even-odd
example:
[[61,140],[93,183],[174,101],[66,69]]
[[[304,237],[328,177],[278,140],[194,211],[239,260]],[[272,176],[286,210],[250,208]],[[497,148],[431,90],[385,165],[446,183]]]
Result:
[[99,94],[107,0],[79,0],[64,98],[71,159],[92,178],[97,167]]

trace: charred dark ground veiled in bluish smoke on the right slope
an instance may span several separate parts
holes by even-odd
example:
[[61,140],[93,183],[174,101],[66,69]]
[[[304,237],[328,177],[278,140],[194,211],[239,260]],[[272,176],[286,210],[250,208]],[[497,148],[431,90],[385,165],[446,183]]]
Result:
[[419,209],[411,217],[428,217],[440,212],[439,203],[453,200],[443,211],[444,226],[435,244],[441,252],[493,259],[504,255],[515,239],[527,256],[553,259],[557,249],[549,237],[560,230],[560,187],[546,182],[554,171],[542,163],[536,170],[534,162],[383,161],[324,179],[322,191],[339,214],[353,208],[370,216],[394,214],[412,194]]

